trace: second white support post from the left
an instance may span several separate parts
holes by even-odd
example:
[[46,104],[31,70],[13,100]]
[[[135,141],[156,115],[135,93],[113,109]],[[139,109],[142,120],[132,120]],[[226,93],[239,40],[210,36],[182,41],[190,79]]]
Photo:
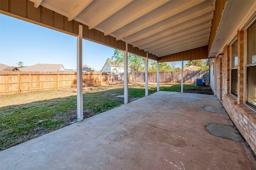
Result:
[[124,104],[128,104],[128,44],[124,51]]

